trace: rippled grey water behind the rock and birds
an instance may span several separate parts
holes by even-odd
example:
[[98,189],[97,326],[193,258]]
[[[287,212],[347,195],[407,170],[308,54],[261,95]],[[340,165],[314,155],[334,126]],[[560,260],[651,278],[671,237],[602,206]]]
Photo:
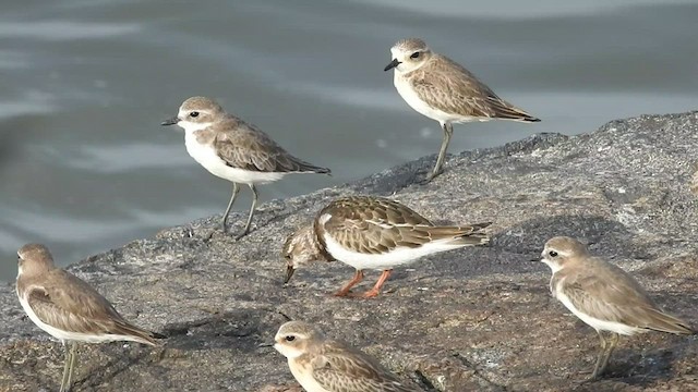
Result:
[[[531,5],[534,3],[534,5]],[[658,3],[658,4],[654,4]],[[334,176],[297,175],[264,200],[435,154],[438,124],[383,72],[424,38],[543,119],[457,125],[449,151],[576,134],[698,107],[698,2],[33,0],[0,14],[0,281],[41,242],[80,260],[220,213],[230,185],[159,126],[212,96]],[[244,193],[238,208],[250,203]]]

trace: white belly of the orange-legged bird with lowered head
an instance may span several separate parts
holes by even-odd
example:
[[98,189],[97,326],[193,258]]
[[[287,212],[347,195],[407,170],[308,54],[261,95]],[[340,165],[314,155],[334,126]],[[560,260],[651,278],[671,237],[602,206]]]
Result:
[[393,269],[394,267],[411,264],[426,255],[462,247],[462,245],[448,244],[448,240],[444,240],[431,242],[417,248],[398,247],[386,254],[363,254],[345,248],[327,232],[324,232],[323,240],[325,241],[325,250],[328,254],[358,270],[374,269],[382,271]]

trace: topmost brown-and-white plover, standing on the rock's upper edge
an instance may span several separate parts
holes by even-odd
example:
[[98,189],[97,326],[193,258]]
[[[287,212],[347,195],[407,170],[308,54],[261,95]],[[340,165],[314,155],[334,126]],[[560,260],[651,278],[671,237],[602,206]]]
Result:
[[444,140],[428,182],[442,173],[453,123],[494,119],[540,121],[497,97],[457,62],[432,52],[419,38],[398,41],[390,48],[390,56],[393,61],[384,71],[395,69],[393,83],[402,99],[417,112],[438,121],[444,130]]

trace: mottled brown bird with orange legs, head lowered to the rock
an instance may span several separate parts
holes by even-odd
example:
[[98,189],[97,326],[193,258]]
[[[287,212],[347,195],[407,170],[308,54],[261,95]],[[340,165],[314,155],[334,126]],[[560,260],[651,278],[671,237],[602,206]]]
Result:
[[340,198],[323,208],[310,225],[286,240],[282,249],[287,261],[286,283],[299,266],[313,260],[339,260],[357,272],[335,295],[349,295],[351,287],[363,279],[363,270],[374,269],[383,273],[375,286],[362,295],[374,297],[393,268],[426,255],[486,244],[490,238],[480,230],[490,224],[436,226],[386,198]]

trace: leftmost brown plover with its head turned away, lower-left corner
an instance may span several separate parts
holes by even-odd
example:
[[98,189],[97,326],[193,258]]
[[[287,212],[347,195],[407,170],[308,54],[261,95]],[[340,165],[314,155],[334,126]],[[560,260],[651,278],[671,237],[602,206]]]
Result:
[[56,268],[46,246],[27,244],[17,255],[17,297],[22,308],[37,327],[65,346],[61,392],[69,391],[72,383],[75,342],[157,344],[155,333],[129,323],[89,284]]

